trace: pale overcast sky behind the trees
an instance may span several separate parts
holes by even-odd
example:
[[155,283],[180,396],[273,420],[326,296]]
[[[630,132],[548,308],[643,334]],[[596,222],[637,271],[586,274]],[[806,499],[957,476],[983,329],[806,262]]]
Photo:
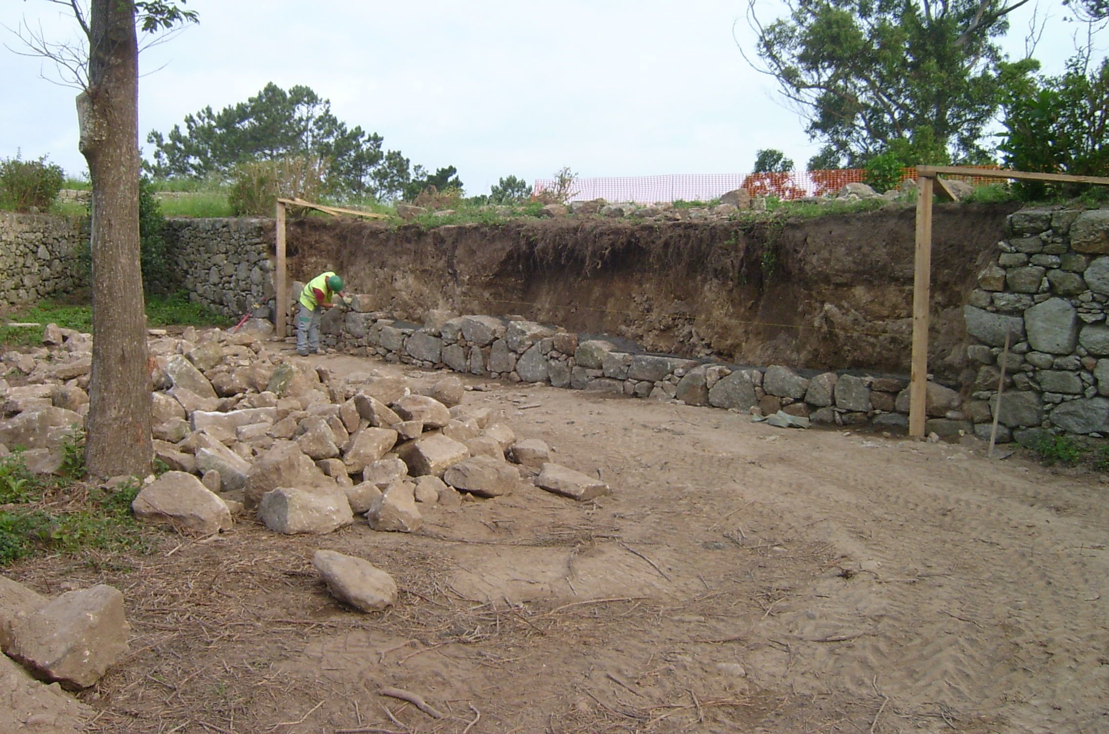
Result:
[[[759,0],[774,17],[776,0]],[[306,84],[339,120],[380,134],[430,170],[454,164],[467,193],[500,176],[745,173],[777,147],[798,165],[818,150],[773,80],[753,71],[743,0],[190,0],[201,22],[146,50],[139,128],[246,100],[267,82]],[[1005,48],[1024,55],[1032,3]],[[1036,57],[1058,73],[1075,26],[1056,2]],[[1027,11],[1027,12],[1026,12]],[[45,0],[0,0],[0,23],[75,30]],[[739,21],[736,23],[736,21]],[[19,48],[8,31],[4,43]],[[1105,40],[1103,38],[1100,40]],[[1102,44],[1103,45],[1103,44]],[[1102,50],[1103,53],[1103,50]],[[0,157],[49,154],[80,174],[75,91],[49,64],[0,48]],[[144,145],[145,146],[145,145]],[[145,146],[149,149],[149,146]],[[149,153],[149,151],[146,151]]]

